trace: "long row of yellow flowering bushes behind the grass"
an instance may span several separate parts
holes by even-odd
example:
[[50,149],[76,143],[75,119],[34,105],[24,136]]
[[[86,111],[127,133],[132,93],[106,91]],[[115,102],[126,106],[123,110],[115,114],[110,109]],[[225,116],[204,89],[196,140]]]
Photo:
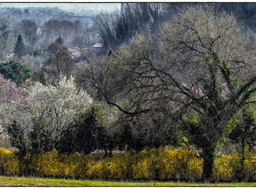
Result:
[[[239,155],[222,155],[215,159],[215,181],[236,181],[241,173]],[[14,152],[0,148],[2,174],[24,173],[23,160]],[[256,154],[250,154],[242,169],[244,181],[256,181]],[[19,165],[20,164],[20,165]],[[23,168],[22,168],[23,167]],[[138,154],[117,153],[103,158],[99,154],[58,154],[48,151],[30,157],[29,169],[37,176],[69,178],[156,179],[199,181],[203,160],[188,150],[151,149]]]

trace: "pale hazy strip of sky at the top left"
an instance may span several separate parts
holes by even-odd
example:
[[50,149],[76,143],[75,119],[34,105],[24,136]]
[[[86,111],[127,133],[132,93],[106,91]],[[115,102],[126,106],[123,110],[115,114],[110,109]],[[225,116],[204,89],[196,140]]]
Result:
[[[0,2],[1,3],[1,2]],[[2,7],[59,7],[62,10],[96,10],[96,11],[113,11],[120,9],[120,3],[1,3]]]

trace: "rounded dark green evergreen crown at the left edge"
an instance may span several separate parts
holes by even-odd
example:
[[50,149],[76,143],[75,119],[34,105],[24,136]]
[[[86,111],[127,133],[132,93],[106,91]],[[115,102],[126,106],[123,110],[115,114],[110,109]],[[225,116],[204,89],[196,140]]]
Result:
[[32,71],[26,65],[14,61],[2,62],[0,73],[4,75],[5,79],[14,81],[18,86],[32,78]]

